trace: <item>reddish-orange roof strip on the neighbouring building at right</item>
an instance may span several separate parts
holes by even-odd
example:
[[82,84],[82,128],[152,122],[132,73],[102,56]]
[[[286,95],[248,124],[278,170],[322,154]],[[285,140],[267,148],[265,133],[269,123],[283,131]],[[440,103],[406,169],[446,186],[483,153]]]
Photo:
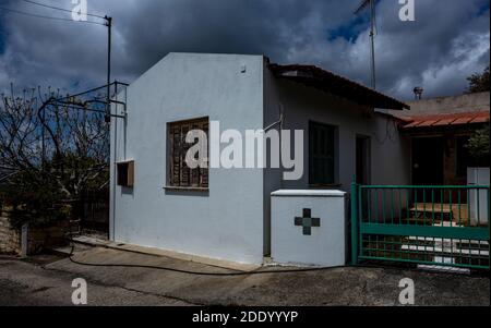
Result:
[[408,117],[404,130],[421,127],[443,127],[450,125],[465,125],[489,122],[489,111],[472,111],[462,113],[441,113],[431,116]]

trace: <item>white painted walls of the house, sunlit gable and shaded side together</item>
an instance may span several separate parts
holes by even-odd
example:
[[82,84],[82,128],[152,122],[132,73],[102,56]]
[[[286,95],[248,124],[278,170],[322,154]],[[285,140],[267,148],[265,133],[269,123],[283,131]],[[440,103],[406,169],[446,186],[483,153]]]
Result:
[[[349,191],[357,134],[372,137],[372,183],[409,182],[408,144],[392,119],[278,81],[262,56],[170,53],[118,99],[128,104],[127,122],[111,124],[110,238],[118,242],[262,263],[271,253],[271,193],[309,189],[309,120],[338,126],[336,189]],[[279,108],[284,129],[306,131],[301,180],[282,181],[279,169],[211,169],[208,193],[164,190],[168,123],[208,117],[220,121],[221,131],[258,130],[277,121]],[[129,159],[135,162],[134,187],[115,186],[113,163]]]

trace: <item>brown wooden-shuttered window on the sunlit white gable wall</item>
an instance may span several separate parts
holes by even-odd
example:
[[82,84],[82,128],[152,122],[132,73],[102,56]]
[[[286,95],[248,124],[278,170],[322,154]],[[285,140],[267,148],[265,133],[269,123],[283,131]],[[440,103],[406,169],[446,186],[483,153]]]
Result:
[[[169,123],[168,141],[169,141],[169,170],[168,186],[170,187],[189,187],[189,189],[207,189],[208,187],[208,168],[199,167],[191,169],[185,162],[185,156],[193,145],[185,142],[185,136],[192,130],[201,130],[208,137],[208,119],[196,119],[190,121],[181,121]],[[197,143],[197,139],[195,141]],[[206,144],[207,148],[208,145]],[[202,153],[204,153],[203,149]],[[201,154],[196,154],[197,157]]]

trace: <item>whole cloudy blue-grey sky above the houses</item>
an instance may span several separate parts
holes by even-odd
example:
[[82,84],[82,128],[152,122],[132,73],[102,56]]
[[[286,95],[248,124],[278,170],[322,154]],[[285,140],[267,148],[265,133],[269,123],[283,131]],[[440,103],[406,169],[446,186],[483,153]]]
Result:
[[[72,9],[72,0],[35,0]],[[76,2],[76,1],[75,1]],[[131,83],[171,51],[265,54],[274,62],[320,65],[370,84],[368,12],[360,0],[87,0],[113,17],[112,77]],[[415,0],[416,21],[398,19],[398,0],[376,2],[381,90],[410,99],[463,93],[466,76],[489,64],[489,0]],[[10,11],[5,10],[10,9]],[[17,11],[17,12],[13,12]],[[69,12],[0,0],[0,90],[104,85],[107,31],[53,21]],[[94,22],[103,22],[89,17]]]

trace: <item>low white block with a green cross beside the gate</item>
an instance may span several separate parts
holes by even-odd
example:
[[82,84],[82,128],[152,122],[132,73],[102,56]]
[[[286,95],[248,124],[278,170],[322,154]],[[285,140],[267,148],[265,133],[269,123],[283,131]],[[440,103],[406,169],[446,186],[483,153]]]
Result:
[[307,190],[272,193],[272,259],[334,267],[346,264],[346,193]]

